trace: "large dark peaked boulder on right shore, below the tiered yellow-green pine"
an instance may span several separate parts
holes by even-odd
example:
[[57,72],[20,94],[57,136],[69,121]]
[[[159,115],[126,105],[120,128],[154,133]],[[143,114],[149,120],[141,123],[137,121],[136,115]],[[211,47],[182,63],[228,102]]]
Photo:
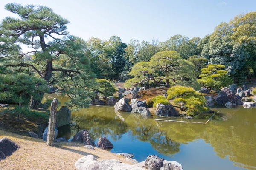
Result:
[[237,96],[229,88],[222,88],[220,93],[216,97],[215,102],[218,105],[225,105],[227,102],[230,102],[233,105],[243,104],[242,101],[237,98]]

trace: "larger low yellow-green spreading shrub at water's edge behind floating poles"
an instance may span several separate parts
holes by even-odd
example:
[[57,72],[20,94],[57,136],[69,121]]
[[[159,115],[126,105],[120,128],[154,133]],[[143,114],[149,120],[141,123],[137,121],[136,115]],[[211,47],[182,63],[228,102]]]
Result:
[[167,99],[174,99],[173,102],[178,106],[185,106],[187,115],[197,115],[209,110],[205,106],[205,98],[191,87],[173,86],[167,91]]

